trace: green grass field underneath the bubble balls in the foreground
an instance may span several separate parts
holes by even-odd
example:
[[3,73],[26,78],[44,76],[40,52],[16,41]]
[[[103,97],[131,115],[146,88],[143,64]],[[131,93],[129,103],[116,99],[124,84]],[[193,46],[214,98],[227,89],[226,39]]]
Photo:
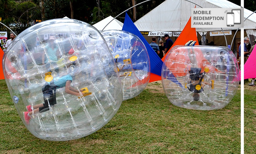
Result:
[[[248,84],[246,84],[248,85]],[[255,94],[245,90],[245,153],[255,149]],[[240,88],[220,110],[199,111],[172,105],[161,82],[149,83],[124,101],[97,132],[54,142],[34,137],[24,126],[0,80],[0,153],[240,153]]]

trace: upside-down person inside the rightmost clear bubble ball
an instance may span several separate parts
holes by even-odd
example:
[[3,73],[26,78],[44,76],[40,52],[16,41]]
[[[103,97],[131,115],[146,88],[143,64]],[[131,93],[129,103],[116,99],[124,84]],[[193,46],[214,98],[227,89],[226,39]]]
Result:
[[[195,43],[196,43],[196,41],[188,41],[185,44],[185,46],[194,46]],[[191,48],[191,50],[188,50],[188,56],[191,61],[191,67],[189,70],[189,78],[191,79],[191,81],[187,88],[189,91],[194,93],[193,94],[194,101],[199,101],[200,100],[199,93],[204,91],[204,89],[203,89],[204,86],[205,85],[212,86],[212,84],[202,81],[205,76],[205,72],[201,73],[202,68],[200,68],[197,64],[197,59],[196,59],[195,51],[193,48]]]

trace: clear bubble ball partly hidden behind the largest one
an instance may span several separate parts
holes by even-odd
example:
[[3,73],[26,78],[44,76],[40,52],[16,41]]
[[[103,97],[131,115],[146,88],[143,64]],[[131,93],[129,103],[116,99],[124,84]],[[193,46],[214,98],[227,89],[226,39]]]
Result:
[[110,52],[119,73],[123,101],[138,96],[147,86],[150,77],[150,64],[144,43],[127,31],[103,31]]

